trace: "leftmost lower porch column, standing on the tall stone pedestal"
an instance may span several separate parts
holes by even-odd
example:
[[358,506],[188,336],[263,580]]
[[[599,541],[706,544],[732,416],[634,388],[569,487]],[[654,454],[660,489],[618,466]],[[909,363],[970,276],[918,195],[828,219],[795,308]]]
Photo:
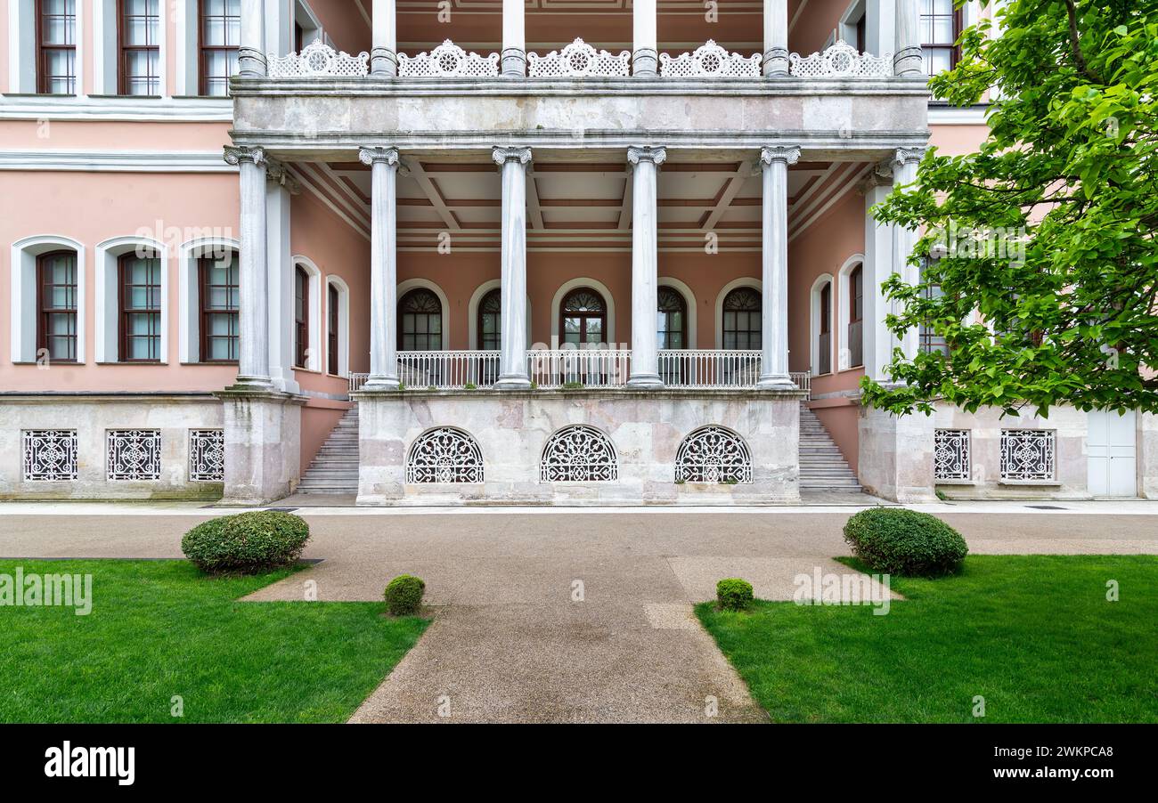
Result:
[[265,150],[225,149],[241,172],[241,253],[237,384],[270,388],[270,310],[266,297]]

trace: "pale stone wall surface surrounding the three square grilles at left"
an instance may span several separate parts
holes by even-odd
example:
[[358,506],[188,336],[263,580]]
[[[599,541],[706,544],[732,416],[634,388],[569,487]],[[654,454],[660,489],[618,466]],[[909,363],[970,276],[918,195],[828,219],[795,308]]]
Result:
[[[210,393],[0,395],[0,499],[218,499],[221,481],[190,479],[190,430],[222,428],[221,403]],[[75,430],[75,479],[25,477],[24,433],[43,430]],[[110,430],[148,433],[144,448],[123,441],[111,469],[156,469],[155,479],[110,479]]]

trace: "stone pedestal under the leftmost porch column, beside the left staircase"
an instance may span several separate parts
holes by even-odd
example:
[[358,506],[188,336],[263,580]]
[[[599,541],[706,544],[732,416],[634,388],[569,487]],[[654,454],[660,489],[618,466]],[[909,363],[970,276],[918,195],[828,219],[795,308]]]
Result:
[[301,473],[305,397],[233,385],[215,393],[225,407],[225,498],[265,504],[293,493]]

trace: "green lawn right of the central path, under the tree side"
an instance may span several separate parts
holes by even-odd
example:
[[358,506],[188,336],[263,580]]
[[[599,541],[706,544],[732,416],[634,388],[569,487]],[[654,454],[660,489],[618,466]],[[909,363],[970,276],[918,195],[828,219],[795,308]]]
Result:
[[[1116,580],[1120,602],[1107,602]],[[868,606],[696,613],[774,722],[1158,722],[1158,558],[970,555]]]

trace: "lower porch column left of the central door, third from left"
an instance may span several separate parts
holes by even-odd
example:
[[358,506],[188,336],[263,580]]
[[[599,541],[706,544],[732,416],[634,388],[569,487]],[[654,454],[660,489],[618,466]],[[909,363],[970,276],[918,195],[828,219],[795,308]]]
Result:
[[494,148],[503,170],[501,356],[499,390],[527,390],[527,162],[530,148]]

